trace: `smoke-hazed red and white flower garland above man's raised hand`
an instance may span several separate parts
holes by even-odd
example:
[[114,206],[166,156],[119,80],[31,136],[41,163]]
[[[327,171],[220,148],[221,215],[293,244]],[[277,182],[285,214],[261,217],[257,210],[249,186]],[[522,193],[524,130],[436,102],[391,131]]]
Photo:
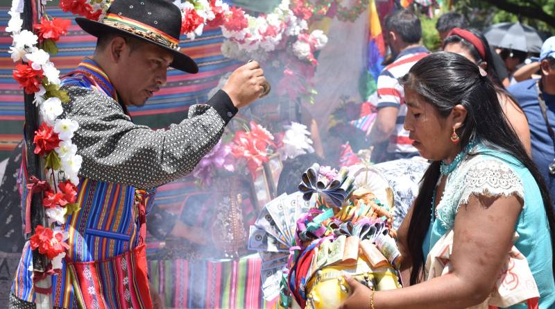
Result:
[[311,3],[282,0],[272,12],[257,17],[232,7],[224,16],[221,29],[227,40],[221,47],[223,56],[259,62],[271,56],[271,65],[281,72],[273,76],[278,78],[276,93],[314,101],[315,54],[325,46],[327,36],[319,29],[309,32],[309,19],[314,16]]

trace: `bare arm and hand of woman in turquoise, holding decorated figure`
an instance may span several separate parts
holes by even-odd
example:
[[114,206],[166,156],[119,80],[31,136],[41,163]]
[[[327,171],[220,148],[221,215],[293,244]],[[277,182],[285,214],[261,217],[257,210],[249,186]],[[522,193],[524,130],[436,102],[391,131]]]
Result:
[[[522,210],[517,197],[472,196],[454,224],[451,272],[401,290],[375,292],[376,309],[467,308],[483,302],[511,249],[515,223]],[[353,279],[341,308],[369,308],[371,291]]]

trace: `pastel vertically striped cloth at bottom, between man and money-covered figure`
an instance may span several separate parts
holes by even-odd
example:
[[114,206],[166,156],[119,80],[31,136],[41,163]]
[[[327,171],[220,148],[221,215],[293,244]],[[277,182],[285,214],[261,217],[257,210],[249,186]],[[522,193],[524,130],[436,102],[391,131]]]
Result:
[[273,308],[262,299],[256,256],[239,260],[151,260],[152,287],[167,308]]

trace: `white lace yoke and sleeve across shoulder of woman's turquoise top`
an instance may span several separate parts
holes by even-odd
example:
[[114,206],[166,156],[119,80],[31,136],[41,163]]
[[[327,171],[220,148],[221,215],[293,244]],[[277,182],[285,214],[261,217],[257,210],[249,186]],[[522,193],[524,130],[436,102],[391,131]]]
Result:
[[[482,158],[480,158],[482,157]],[[520,177],[502,160],[477,156],[461,162],[452,176],[447,178],[443,197],[436,208],[436,218],[444,228],[454,226],[459,206],[466,205],[472,195],[486,197],[517,196],[524,200],[524,187]]]

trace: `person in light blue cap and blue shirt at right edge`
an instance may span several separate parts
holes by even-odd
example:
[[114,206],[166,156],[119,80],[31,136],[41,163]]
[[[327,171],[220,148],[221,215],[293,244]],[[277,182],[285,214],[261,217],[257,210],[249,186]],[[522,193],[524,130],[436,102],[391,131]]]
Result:
[[508,88],[528,117],[533,161],[555,197],[555,36],[543,43],[541,78],[531,78]]

